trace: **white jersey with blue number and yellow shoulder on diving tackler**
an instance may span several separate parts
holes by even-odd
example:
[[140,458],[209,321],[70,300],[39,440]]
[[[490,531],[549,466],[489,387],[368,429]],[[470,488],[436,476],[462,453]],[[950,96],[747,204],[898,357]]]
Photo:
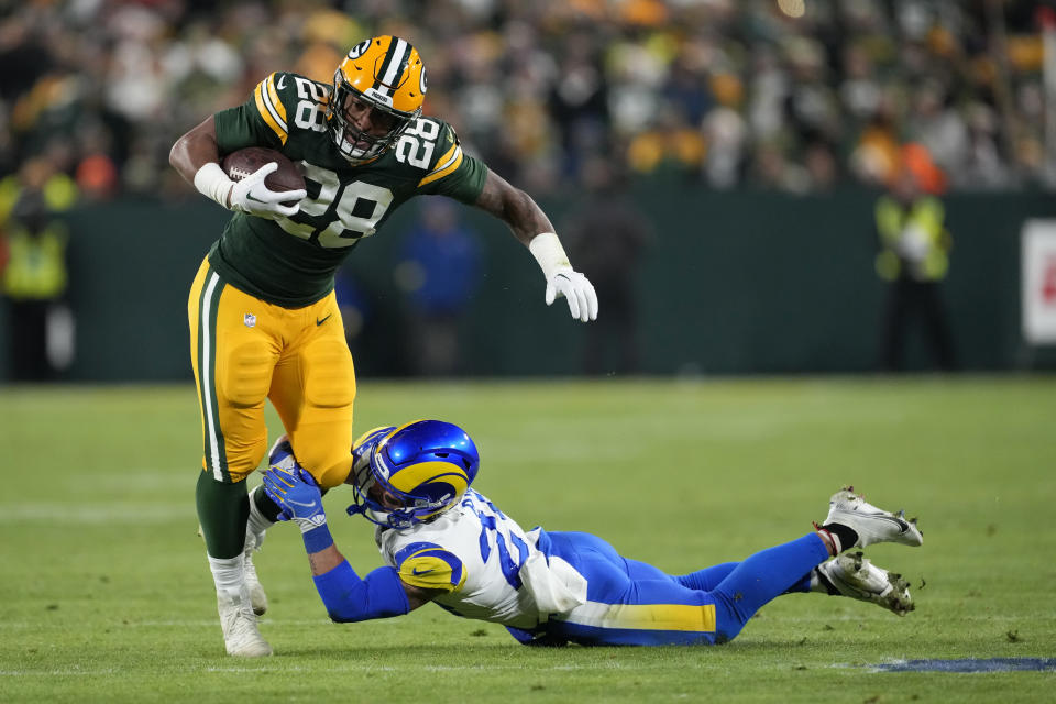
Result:
[[378,528],[375,540],[404,582],[444,590],[433,601],[459,616],[517,628],[546,619],[531,590],[521,588],[521,565],[546,559],[536,536],[472,488],[436,520],[404,530]]

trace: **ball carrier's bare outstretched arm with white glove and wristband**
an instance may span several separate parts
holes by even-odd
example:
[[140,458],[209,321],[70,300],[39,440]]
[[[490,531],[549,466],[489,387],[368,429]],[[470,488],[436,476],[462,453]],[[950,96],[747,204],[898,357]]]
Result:
[[528,194],[510,186],[506,179],[488,169],[484,189],[475,205],[509,226],[514,235],[536,257],[547,279],[548,306],[558,296],[564,296],[573,318],[583,322],[597,319],[594,286],[586,276],[572,268],[561,240],[553,231],[553,224]]

